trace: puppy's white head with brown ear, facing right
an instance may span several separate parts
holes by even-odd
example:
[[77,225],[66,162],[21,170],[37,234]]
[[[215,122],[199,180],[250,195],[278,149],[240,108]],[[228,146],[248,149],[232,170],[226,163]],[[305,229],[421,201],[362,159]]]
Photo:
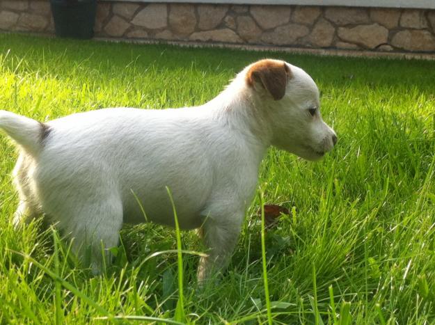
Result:
[[337,136],[320,114],[319,90],[301,68],[262,60],[246,68],[255,106],[271,127],[271,143],[308,160],[321,159]]

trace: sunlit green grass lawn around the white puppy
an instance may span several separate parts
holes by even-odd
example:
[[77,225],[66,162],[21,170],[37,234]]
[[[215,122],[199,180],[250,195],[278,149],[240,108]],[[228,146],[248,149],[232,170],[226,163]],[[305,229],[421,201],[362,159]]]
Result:
[[[198,256],[190,251],[203,248],[193,232],[182,232],[177,248],[174,230],[125,227],[113,265],[98,277],[77,266],[56,231],[41,233],[32,223],[15,232],[10,171],[17,154],[0,136],[1,324],[122,317],[173,324],[434,324],[435,62],[0,34],[0,107],[43,121],[107,106],[191,106],[265,56],[312,75],[339,143],[316,164],[269,150],[232,263],[202,291]],[[262,200],[292,211],[264,237]],[[181,249],[188,251],[182,261]]]

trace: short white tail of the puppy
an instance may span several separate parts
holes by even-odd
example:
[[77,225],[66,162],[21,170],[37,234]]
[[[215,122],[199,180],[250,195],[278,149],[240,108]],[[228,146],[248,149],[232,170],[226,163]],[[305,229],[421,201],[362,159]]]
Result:
[[40,152],[42,140],[47,133],[47,126],[43,123],[1,110],[0,129],[32,155]]

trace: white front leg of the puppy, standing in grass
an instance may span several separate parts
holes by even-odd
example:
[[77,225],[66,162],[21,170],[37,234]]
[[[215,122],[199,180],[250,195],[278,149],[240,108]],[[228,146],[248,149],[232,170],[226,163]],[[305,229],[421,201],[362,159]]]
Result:
[[225,219],[207,217],[200,235],[207,247],[207,257],[201,257],[198,283],[203,283],[228,266],[242,226],[243,214]]

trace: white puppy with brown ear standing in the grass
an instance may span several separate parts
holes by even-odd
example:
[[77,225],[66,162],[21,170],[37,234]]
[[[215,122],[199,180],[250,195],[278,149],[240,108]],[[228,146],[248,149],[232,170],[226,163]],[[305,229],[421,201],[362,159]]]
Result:
[[92,250],[98,273],[101,245],[118,244],[122,223],[144,222],[141,206],[146,219],[174,225],[168,187],[180,228],[202,227],[203,280],[229,260],[267,148],[308,160],[333,148],[337,136],[319,107],[306,72],[268,59],[198,107],[101,109],[46,123],[0,111],[0,129],[19,146],[14,222],[45,214],[79,256]]

